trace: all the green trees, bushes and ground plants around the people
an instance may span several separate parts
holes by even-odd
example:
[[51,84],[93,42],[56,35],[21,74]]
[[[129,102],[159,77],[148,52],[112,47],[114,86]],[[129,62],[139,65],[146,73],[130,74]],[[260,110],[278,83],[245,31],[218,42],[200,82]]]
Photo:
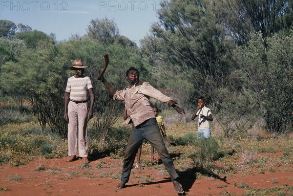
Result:
[[[163,0],[157,10],[160,22],[151,26],[140,48],[120,35],[115,22],[108,19],[93,19],[86,35],[62,43],[29,26],[17,31],[14,22],[0,20],[0,165],[20,167],[40,156],[49,160],[67,155],[64,88],[72,74],[68,65],[81,58],[88,66],[85,75],[92,80],[96,100],[94,117],[88,122],[89,157],[105,156],[116,162],[80,164],[75,168],[80,174],[36,163],[38,172],[34,172],[51,172],[60,180],[119,179],[121,173],[111,169],[123,164],[130,129],[121,125],[123,102],[110,100],[97,81],[104,63],[100,54],[106,51],[117,65],[105,73],[114,87],[124,88],[124,70],[135,66],[141,79],[164,90],[188,116],[195,111],[199,95],[207,98],[214,117],[208,139],[197,138],[196,120],[150,99],[162,109],[168,138],[178,144],[167,146],[178,173],[192,180],[225,182],[234,174],[292,173],[292,6],[292,0]],[[149,143],[144,143],[142,153],[150,153]],[[142,158],[141,163],[168,175],[160,160],[152,165]],[[109,168],[111,172],[104,172]],[[153,180],[142,170],[131,174],[138,187]],[[23,180],[19,174],[6,178]],[[282,184],[281,178],[267,181]],[[255,188],[234,181],[233,188],[241,189],[241,196],[293,196],[290,183]],[[45,193],[53,194],[47,190],[51,185],[45,185]],[[237,195],[228,191],[228,183],[215,187],[224,189],[220,196]],[[0,191],[9,188],[0,187]]]

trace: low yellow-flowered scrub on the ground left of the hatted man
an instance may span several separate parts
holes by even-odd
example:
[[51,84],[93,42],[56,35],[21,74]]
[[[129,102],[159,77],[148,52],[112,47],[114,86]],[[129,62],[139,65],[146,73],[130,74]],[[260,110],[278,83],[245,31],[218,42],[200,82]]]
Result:
[[[33,156],[61,157],[67,151],[57,133],[43,133],[35,122],[7,124],[0,129],[0,164],[25,164]],[[66,142],[67,144],[67,142]]]

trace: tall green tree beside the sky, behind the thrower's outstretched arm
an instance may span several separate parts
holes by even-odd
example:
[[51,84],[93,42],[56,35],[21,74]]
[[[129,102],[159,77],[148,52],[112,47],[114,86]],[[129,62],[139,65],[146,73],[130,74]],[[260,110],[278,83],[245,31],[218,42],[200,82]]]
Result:
[[154,40],[161,44],[151,46],[159,48],[151,55],[160,61],[154,65],[158,78],[193,84],[196,94],[187,95],[190,101],[200,94],[211,99],[211,87],[225,82],[233,69],[229,61],[233,43],[221,25],[219,7],[216,0],[164,0],[158,10],[160,22],[151,27]]

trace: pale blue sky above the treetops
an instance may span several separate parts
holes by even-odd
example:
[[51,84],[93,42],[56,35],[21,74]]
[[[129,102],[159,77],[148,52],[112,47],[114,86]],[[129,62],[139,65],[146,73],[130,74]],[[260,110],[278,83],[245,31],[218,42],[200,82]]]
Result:
[[139,45],[152,23],[158,22],[161,0],[0,0],[0,19],[22,23],[57,41],[86,34],[93,19],[113,20],[120,35]]

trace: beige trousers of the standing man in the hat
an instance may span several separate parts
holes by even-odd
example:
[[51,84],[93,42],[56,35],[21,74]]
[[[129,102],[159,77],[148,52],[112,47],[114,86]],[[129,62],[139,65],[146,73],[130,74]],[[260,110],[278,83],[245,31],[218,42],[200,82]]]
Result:
[[[68,156],[76,155],[77,139],[79,156],[87,157],[87,103],[68,103]],[[78,134],[78,137],[77,137]]]

